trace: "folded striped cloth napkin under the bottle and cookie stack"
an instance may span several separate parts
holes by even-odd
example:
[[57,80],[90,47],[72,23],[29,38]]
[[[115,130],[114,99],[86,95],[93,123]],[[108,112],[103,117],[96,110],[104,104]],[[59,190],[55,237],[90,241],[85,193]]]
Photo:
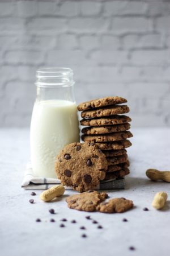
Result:
[[[60,180],[44,177],[36,177],[33,174],[31,163],[26,166],[24,179],[22,182],[22,188],[24,189],[40,189],[45,190],[53,187],[53,185],[61,184]],[[101,181],[100,185],[96,188],[97,190],[109,190],[109,189],[122,189],[125,188],[125,179],[114,179]],[[72,187],[65,187],[66,190],[72,190]]]

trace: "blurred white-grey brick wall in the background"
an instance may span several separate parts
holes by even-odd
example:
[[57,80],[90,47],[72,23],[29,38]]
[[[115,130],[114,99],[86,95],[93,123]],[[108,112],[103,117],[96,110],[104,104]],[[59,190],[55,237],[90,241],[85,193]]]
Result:
[[63,65],[78,103],[119,95],[134,126],[170,126],[170,1],[1,0],[0,126],[28,126],[36,69]]

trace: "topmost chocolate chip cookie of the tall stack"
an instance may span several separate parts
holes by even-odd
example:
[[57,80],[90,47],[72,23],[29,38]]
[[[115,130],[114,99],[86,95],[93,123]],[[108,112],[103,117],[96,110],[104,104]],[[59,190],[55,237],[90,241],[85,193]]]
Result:
[[94,109],[94,108],[100,108],[102,106],[108,106],[108,105],[116,105],[116,104],[122,104],[127,102],[125,98],[114,96],[114,97],[104,97],[104,98],[97,98],[95,100],[86,101],[78,105],[78,110],[88,110],[88,109]]

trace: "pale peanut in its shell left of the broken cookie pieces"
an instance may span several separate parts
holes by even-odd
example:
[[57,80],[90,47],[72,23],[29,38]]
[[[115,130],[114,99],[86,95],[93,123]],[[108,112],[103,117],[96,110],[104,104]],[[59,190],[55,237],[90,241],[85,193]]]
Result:
[[62,196],[64,192],[65,188],[63,187],[63,185],[56,185],[42,192],[40,195],[40,199],[48,202],[53,200],[55,197]]

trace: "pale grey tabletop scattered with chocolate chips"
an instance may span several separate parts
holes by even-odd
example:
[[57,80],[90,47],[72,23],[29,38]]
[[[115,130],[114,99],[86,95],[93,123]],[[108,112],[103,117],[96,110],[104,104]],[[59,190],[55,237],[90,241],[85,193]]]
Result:
[[[147,179],[147,168],[170,170],[170,129],[133,129],[133,146],[128,149],[131,174],[126,177],[126,188],[109,191],[110,197],[133,200],[134,209],[121,214],[87,213],[67,208],[65,196],[53,203],[39,199],[41,191],[20,187],[25,164],[29,159],[29,130],[0,130],[0,254],[7,255],[169,255],[170,201],[163,210],[155,210],[151,202],[156,192],[166,191],[170,198],[170,184]],[[30,204],[29,199],[35,199]],[[149,210],[143,210],[147,207]],[[54,208],[56,214],[50,214]],[[97,229],[91,218],[103,229]],[[41,222],[36,222],[41,218]],[[50,222],[54,218],[56,222]],[[61,219],[67,218],[65,228]],[[123,222],[127,218],[128,222]],[[72,224],[71,220],[76,220]],[[86,230],[79,229],[85,226]],[[87,238],[82,238],[83,233]],[[129,246],[135,250],[130,251]]]

